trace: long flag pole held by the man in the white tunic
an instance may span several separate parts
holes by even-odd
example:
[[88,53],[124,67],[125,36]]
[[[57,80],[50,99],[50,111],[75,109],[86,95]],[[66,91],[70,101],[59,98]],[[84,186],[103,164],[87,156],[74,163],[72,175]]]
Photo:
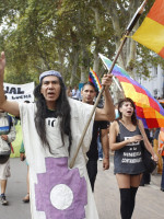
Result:
[[[124,45],[125,45],[125,43],[126,43],[126,41],[127,41],[127,36],[130,34],[130,32],[132,31],[134,24],[137,23],[137,21],[139,20],[140,15],[142,14],[147,2],[148,2],[148,0],[144,0],[143,3],[140,5],[140,8],[138,8],[138,10],[137,10],[137,12],[134,13],[133,18],[131,19],[129,25],[127,26],[126,32],[125,32],[125,35],[124,35],[124,38],[122,38],[122,41],[121,41],[121,44],[120,44],[120,46],[119,46],[119,48],[118,48],[118,51],[117,51],[117,54],[116,54],[116,56],[115,56],[115,58],[114,58],[114,60],[113,60],[113,64],[112,64],[112,66],[110,66],[110,68],[109,68],[109,70],[108,70],[108,74],[112,73],[113,68],[115,67],[115,64],[116,64],[116,61],[117,61],[117,59],[118,59],[118,57],[119,57],[119,55],[120,55],[120,53],[121,53],[121,50],[122,50],[122,47],[124,47]],[[87,120],[87,123],[86,123],[86,125],[85,125],[85,127],[84,127],[84,130],[83,130],[83,132],[82,132],[82,136],[81,136],[81,138],[80,138],[80,141],[79,141],[77,151],[75,151],[75,153],[74,153],[74,157],[73,157],[73,159],[72,159],[71,162],[70,162],[70,165],[69,165],[70,169],[72,169],[73,165],[74,165],[74,162],[75,162],[75,159],[77,159],[77,157],[78,157],[79,150],[80,150],[80,148],[81,148],[81,146],[82,146],[84,136],[85,136],[86,130],[87,130],[87,128],[89,128],[89,125],[90,125],[90,123],[91,123],[92,116],[93,116],[93,114],[94,114],[94,112],[95,112],[95,110],[96,110],[96,107],[97,107],[97,105],[98,105],[98,102],[99,102],[101,96],[102,96],[102,94],[103,94],[103,92],[104,92],[104,89],[105,89],[105,87],[102,85],[102,89],[101,89],[101,91],[99,91],[99,94],[98,94],[98,96],[97,96],[97,99],[96,99],[96,102],[95,102],[93,108],[92,108],[90,118],[89,118],[89,120]]]

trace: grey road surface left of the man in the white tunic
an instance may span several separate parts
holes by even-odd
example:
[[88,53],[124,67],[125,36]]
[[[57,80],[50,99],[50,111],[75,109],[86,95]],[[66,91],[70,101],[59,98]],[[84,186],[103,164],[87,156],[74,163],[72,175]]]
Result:
[[11,177],[8,181],[7,198],[9,206],[0,205],[0,219],[31,219],[30,204],[22,198],[26,194],[26,163],[20,159],[11,160]]

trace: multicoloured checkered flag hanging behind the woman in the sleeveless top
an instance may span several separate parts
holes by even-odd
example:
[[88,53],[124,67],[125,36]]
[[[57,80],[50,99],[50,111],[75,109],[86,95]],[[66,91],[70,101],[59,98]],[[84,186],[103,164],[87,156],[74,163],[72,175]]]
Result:
[[[112,61],[103,55],[99,57],[109,69]],[[136,103],[137,116],[142,120],[144,128],[164,127],[164,108],[151,93],[117,65],[113,69],[113,74],[119,80],[125,96]]]

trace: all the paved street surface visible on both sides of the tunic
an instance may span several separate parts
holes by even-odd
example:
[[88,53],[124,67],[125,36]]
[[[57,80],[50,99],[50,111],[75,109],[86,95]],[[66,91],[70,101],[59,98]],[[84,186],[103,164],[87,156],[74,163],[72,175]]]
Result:
[[[7,197],[9,206],[0,205],[0,219],[31,219],[30,204],[22,198],[26,194],[26,164],[20,159],[11,159],[12,176],[8,183]],[[164,193],[160,191],[161,175],[153,175],[151,185],[140,187],[132,219],[164,219]],[[99,219],[120,219],[119,191],[110,170],[103,171],[98,161],[98,174],[95,184],[95,200]],[[71,218],[70,218],[71,219]]]

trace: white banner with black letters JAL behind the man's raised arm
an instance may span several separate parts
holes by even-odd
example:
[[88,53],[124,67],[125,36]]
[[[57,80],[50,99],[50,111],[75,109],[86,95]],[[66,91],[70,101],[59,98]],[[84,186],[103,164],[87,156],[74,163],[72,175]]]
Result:
[[3,83],[3,88],[9,101],[34,102],[34,82],[25,84]]

